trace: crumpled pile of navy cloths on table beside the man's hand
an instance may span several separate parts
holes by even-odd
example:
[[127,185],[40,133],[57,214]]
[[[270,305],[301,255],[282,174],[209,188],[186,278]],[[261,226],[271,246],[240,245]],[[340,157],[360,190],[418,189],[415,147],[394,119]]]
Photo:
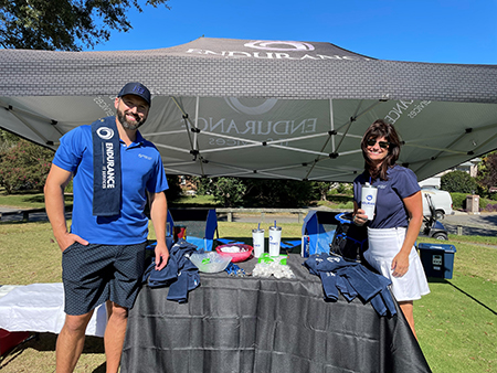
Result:
[[200,286],[199,268],[190,262],[197,246],[179,239],[169,251],[169,262],[161,270],[156,269],[156,258],[144,274],[144,283],[151,288],[169,286],[168,300],[187,302],[188,292]]

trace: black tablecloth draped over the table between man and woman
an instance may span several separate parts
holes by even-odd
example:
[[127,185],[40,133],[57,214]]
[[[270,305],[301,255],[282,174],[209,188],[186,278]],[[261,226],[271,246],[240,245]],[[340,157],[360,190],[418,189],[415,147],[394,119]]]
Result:
[[326,302],[303,262],[288,258],[295,279],[201,274],[181,305],[166,299],[167,287],[145,286],[129,311],[121,372],[431,372],[402,315],[379,317],[341,296]]

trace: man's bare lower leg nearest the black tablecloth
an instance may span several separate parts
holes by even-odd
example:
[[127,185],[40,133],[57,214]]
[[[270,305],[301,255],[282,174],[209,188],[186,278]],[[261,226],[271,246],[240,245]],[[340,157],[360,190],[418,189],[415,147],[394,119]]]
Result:
[[106,306],[108,320],[104,343],[107,358],[107,373],[117,373],[128,322],[128,309],[113,301],[107,301]]

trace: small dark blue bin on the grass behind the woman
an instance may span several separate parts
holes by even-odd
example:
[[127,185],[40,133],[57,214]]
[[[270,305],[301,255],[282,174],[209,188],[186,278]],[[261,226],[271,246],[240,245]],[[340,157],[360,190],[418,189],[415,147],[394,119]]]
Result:
[[426,277],[452,278],[454,270],[454,245],[419,244],[421,263]]

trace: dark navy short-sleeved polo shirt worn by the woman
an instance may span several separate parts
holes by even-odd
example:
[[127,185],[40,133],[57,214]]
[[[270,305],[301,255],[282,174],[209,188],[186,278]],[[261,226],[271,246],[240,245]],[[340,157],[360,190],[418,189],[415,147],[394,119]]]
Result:
[[[409,224],[408,211],[403,199],[421,190],[415,173],[404,167],[395,164],[387,171],[389,180],[377,179],[372,185],[378,188],[374,220],[368,222],[371,228],[406,227]],[[353,200],[361,205],[361,186],[369,182],[363,173],[353,180]]]

